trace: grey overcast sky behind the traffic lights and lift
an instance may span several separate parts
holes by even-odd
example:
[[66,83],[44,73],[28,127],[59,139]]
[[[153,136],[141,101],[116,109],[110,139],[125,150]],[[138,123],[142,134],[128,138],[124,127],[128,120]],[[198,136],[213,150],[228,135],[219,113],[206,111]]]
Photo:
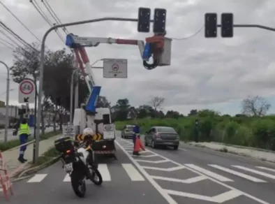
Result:
[[[38,38],[49,25],[27,0],[1,0]],[[43,3],[36,0],[50,20]],[[138,7],[167,9],[167,36],[186,38],[204,24],[207,12],[232,12],[235,24],[264,24],[275,27],[275,1],[272,0],[47,0],[61,22],[98,17],[137,17]],[[36,39],[0,5],[0,20],[28,43]],[[54,22],[52,20],[52,22]],[[142,39],[152,34],[137,33],[133,22],[97,22],[74,27],[68,31],[78,36]],[[61,34],[65,37],[64,32]],[[142,66],[139,50],[132,45],[99,45],[87,48],[91,62],[102,58],[128,59],[128,79],[104,79],[103,71],[94,71],[102,95],[112,104],[128,98],[131,105],[148,104],[152,96],[165,98],[164,110],[184,114],[191,109],[211,108],[222,113],[240,112],[240,101],[248,94],[267,97],[275,106],[275,36],[272,31],[237,28],[234,38],[204,37],[204,30],[186,40],[173,40],[172,64],[148,71]],[[218,36],[220,31],[218,31]],[[5,38],[0,34],[1,38]],[[56,33],[47,38],[52,50],[65,48]],[[12,52],[0,45],[1,59],[11,66]],[[99,61],[96,66],[102,66]],[[0,100],[5,100],[6,68],[0,70]],[[18,85],[11,83],[10,101],[17,103]],[[271,112],[275,112],[272,108]]]

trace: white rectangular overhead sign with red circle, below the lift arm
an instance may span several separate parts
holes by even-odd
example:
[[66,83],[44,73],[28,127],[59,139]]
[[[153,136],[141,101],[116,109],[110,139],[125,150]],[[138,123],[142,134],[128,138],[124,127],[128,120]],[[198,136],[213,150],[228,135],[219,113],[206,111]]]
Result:
[[127,59],[103,59],[103,78],[127,77]]

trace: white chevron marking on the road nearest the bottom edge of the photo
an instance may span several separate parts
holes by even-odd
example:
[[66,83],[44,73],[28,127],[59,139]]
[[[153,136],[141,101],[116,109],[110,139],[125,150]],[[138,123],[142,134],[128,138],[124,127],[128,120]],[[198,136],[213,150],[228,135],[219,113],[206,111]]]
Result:
[[202,201],[210,201],[210,202],[214,202],[214,203],[223,203],[225,201],[230,201],[233,198],[237,198],[238,196],[242,195],[242,192],[239,190],[230,190],[227,191],[223,194],[219,194],[218,196],[202,196],[202,195],[198,195],[198,194],[190,194],[190,193],[186,193],[186,192],[181,192],[181,191],[173,191],[173,190],[166,190],[168,192],[168,194],[174,195],[174,196],[183,196],[183,197],[187,197],[187,198],[195,198],[195,199],[199,199]]

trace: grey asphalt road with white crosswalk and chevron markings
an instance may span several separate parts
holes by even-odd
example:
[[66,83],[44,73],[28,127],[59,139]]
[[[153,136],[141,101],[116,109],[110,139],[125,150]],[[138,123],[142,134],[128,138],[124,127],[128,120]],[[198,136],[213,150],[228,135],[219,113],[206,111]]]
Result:
[[272,163],[189,145],[177,151],[147,147],[142,156],[132,156],[131,140],[117,135],[119,160],[101,160],[103,185],[88,184],[84,199],[75,196],[56,163],[13,184],[9,203],[274,203]]

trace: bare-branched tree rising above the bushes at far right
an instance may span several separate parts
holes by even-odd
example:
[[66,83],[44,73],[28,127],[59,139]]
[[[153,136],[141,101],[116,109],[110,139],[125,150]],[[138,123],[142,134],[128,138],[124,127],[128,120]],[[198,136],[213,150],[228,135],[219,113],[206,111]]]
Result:
[[248,96],[241,103],[242,113],[248,116],[262,117],[271,107],[270,103],[261,96]]

